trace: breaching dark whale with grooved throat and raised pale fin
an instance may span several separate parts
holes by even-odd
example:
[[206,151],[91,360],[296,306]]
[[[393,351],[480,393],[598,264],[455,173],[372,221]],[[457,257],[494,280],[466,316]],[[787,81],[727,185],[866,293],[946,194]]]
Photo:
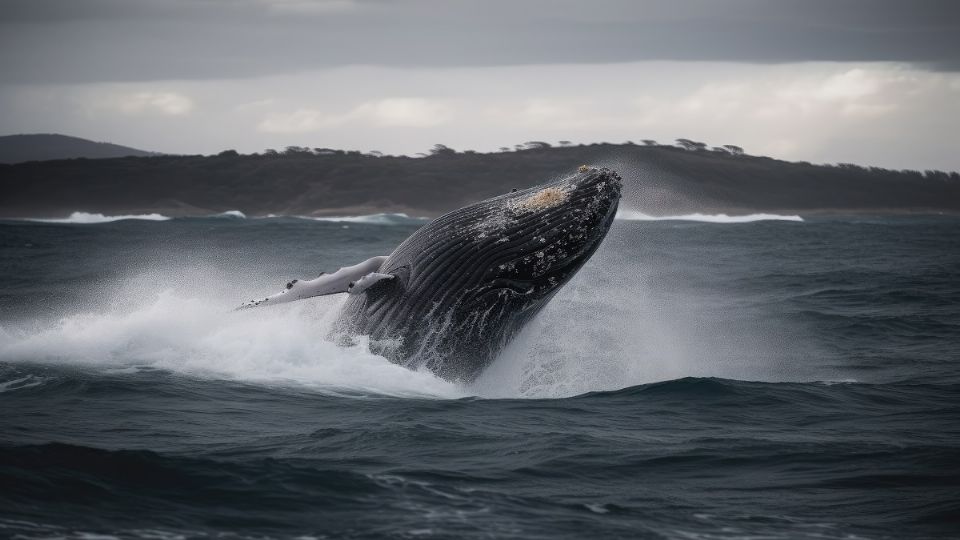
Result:
[[239,309],[349,293],[334,333],[372,352],[471,382],[596,251],[613,222],[620,176],[576,174],[445,214],[389,256],[294,280]]

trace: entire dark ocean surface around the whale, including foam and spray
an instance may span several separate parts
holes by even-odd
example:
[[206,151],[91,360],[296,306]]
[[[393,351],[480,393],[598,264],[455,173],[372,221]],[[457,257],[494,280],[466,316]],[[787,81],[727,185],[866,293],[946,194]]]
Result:
[[617,221],[468,388],[230,311],[386,221],[0,223],[0,537],[960,538],[960,219]]

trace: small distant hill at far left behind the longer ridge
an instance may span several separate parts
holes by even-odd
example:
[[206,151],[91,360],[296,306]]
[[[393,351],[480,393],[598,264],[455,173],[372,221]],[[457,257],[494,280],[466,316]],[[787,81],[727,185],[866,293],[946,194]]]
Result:
[[0,137],[0,163],[152,155],[156,154],[118,144],[98,143],[67,135],[37,134]]

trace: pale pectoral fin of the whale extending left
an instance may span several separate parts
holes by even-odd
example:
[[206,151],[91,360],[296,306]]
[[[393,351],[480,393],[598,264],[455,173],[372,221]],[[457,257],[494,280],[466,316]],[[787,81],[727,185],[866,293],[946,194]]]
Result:
[[251,300],[237,309],[272,306],[327,294],[346,292],[359,294],[380,280],[393,278],[391,274],[377,272],[386,260],[385,256],[373,257],[360,264],[345,266],[332,274],[320,274],[320,277],[309,281],[295,279],[287,283],[285,290],[260,300]]

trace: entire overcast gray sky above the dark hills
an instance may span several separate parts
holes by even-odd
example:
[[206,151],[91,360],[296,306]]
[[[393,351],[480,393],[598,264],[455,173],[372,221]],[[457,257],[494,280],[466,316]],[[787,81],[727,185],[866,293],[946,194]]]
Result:
[[954,0],[0,0],[0,130],[161,152],[678,137],[960,170]]

